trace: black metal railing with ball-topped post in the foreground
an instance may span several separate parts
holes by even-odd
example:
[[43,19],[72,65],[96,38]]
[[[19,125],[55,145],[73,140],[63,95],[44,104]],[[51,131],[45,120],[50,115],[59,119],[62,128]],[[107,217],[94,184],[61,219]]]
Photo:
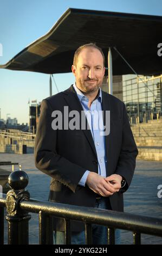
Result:
[[53,216],[64,218],[65,241],[70,245],[70,220],[85,223],[86,244],[92,244],[92,224],[104,225],[108,229],[108,245],[115,243],[115,229],[129,230],[133,233],[133,243],[141,243],[141,234],[162,237],[162,219],[138,216],[111,210],[94,209],[76,205],[53,203],[30,199],[25,190],[28,175],[21,171],[9,176],[12,188],[7,195],[0,198],[0,243],[4,243],[4,207],[7,208],[8,244],[29,243],[29,212],[39,216],[40,244],[53,244]]

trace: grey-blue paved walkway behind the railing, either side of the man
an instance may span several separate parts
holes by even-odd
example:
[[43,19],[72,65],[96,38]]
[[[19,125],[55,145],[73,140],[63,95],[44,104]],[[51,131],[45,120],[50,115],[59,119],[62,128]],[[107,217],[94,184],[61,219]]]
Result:
[[[48,200],[50,177],[35,168],[34,155],[0,154],[0,161],[19,162],[29,176],[27,186],[30,198]],[[15,166],[16,167],[16,166]],[[18,168],[18,166],[17,166]],[[11,166],[3,166],[11,170]],[[124,194],[125,212],[132,214],[162,218],[162,198],[158,198],[158,185],[162,185],[162,162],[137,161],[134,178],[129,190]],[[162,244],[162,238],[141,235],[144,244]],[[129,231],[122,231],[121,243],[133,242],[133,235]],[[7,243],[7,222],[5,221],[5,243]],[[29,243],[38,243],[38,215],[31,214],[29,222]]]

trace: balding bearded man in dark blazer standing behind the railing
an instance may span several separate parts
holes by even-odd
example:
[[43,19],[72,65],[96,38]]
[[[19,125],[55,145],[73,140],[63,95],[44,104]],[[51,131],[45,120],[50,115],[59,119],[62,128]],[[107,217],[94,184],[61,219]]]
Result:
[[[105,58],[98,46],[79,47],[72,72],[75,84],[42,101],[35,142],[36,167],[52,178],[51,201],[123,211],[122,193],[131,184],[138,154],[125,105],[100,89]],[[70,117],[72,124],[76,111],[80,126],[70,129],[66,119]],[[64,117],[62,122],[57,119],[59,113]],[[86,129],[81,127],[84,114]],[[105,131],[109,127],[109,132],[102,133],[103,127]],[[72,243],[85,243],[84,228],[83,223],[72,221]],[[64,243],[61,218],[55,218],[54,230],[55,242]],[[93,225],[93,243],[107,243],[106,227]]]

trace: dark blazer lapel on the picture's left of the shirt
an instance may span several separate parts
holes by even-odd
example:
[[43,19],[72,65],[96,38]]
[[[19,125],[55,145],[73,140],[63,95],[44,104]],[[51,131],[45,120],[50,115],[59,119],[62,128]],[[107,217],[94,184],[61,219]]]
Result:
[[[79,115],[80,115],[80,129],[81,129],[81,111],[83,111],[83,108],[82,108],[82,105],[81,105],[81,103],[80,103],[80,101],[77,97],[75,89],[73,88],[73,86],[70,86],[70,88],[67,89],[66,91],[64,91],[64,93],[66,94],[64,99],[66,100],[69,108],[71,110],[76,110],[76,111],[79,112]],[[82,113],[84,114],[84,112],[82,112]],[[87,118],[86,118],[86,127],[87,127],[87,125],[88,125],[88,121],[87,121]],[[89,125],[88,125],[88,127],[89,127]],[[82,130],[82,131],[85,134],[90,146],[92,147],[92,150],[94,151],[96,159],[98,159],[97,154],[96,154],[94,141],[93,141],[93,137],[92,137],[92,133],[91,133],[90,129],[86,129],[86,130]]]

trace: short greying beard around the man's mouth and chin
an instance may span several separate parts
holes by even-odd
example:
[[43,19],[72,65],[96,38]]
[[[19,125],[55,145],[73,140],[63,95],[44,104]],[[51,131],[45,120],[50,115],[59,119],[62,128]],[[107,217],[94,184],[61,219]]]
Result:
[[[90,81],[94,81],[94,82],[90,82]],[[98,79],[82,80],[81,78],[77,78],[76,85],[83,93],[88,94],[88,93],[96,92],[99,89],[99,87],[101,86],[102,81],[103,81],[103,78],[102,78],[102,80],[98,80]]]

